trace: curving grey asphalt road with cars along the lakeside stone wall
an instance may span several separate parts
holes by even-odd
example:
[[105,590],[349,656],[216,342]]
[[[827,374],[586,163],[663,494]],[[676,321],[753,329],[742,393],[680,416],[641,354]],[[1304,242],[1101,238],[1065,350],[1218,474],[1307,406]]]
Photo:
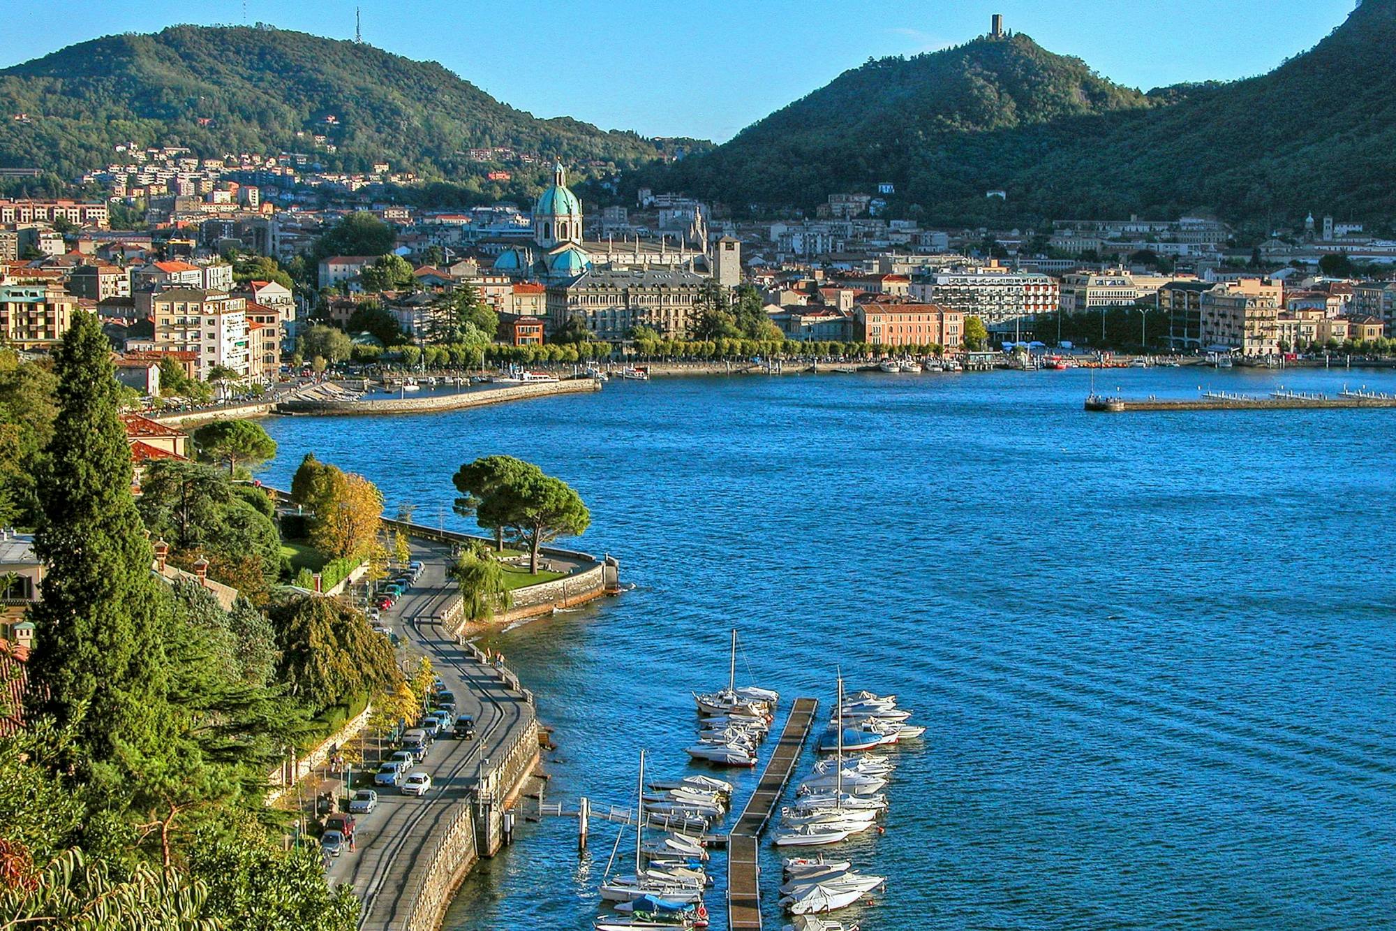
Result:
[[[403,640],[409,670],[417,656],[431,657],[437,675],[455,693],[456,713],[473,714],[476,739],[437,738],[422,765],[410,772],[431,774],[431,791],[417,798],[395,788],[378,788],[378,808],[360,815],[356,850],[329,864],[332,883],[352,883],[363,900],[362,928],[387,928],[410,904],[413,871],[426,868],[437,829],[456,816],[480,772],[480,760],[496,760],[533,716],[522,696],[510,692],[497,672],[459,647],[434,622],[456,597],[447,577],[450,547],[413,545],[422,559],[422,577],[384,612],[384,621]],[[367,766],[366,766],[367,767]],[[374,766],[374,772],[377,767]]]

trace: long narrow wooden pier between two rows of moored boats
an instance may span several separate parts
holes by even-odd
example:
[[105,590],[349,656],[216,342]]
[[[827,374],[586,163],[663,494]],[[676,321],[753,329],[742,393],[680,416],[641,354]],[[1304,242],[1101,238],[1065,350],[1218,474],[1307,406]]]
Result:
[[771,815],[790,781],[790,773],[800,760],[818,699],[796,699],[786,719],[776,749],[771,753],[765,772],[757,783],[741,816],[727,835],[727,928],[730,931],[761,930],[761,865],[757,842],[766,829]]

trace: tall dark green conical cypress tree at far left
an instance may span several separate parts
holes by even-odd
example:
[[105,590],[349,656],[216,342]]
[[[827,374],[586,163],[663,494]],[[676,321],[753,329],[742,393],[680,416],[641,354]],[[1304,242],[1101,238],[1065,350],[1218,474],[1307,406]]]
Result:
[[59,414],[38,477],[35,552],[47,565],[31,608],[32,714],[77,724],[71,763],[105,781],[158,749],[166,670],[163,593],[131,496],[131,452],[119,418],[112,349],[80,313],[53,356]]

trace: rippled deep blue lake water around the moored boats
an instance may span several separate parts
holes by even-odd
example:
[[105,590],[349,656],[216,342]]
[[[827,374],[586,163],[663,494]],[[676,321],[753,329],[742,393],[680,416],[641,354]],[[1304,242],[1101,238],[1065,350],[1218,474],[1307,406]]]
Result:
[[[782,693],[778,726],[797,695],[826,713],[839,668],[898,693],[930,730],[895,753],[886,833],[829,849],[889,876],[847,913],[868,931],[1396,925],[1396,410],[1086,414],[1087,379],[676,379],[279,418],[267,478],[314,450],[389,513],[412,500],[462,528],[450,478],[477,456],[582,493],[579,545],[638,589],[493,639],[556,727],[551,801],[627,804],[641,748],[656,777],[705,772],[683,752],[688,692],[726,682],[732,626],[738,679]],[[1396,375],[1096,384],[1396,391]],[[589,928],[616,826],[593,825],[582,860],[575,830],[522,825],[445,927]],[[720,854],[713,872],[725,928]]]

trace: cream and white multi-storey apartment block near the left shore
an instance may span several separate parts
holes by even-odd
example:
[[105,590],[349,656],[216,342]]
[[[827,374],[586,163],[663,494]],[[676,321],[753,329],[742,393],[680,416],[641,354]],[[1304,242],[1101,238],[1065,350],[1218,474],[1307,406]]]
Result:
[[149,301],[156,349],[197,352],[201,379],[215,365],[243,377],[251,373],[246,298],[223,291],[168,288]]

